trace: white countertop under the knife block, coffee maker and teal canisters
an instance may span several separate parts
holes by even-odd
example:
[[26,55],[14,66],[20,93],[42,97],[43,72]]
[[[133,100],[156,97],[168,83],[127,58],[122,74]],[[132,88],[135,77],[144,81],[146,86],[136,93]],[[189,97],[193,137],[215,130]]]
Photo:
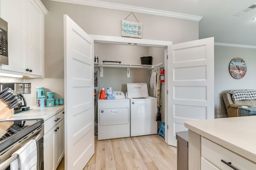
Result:
[[44,119],[44,121],[46,121],[47,119],[49,119],[56,113],[62,111],[63,109],[64,105],[43,108],[30,106],[30,109],[28,111],[22,111],[20,113],[14,114],[14,116],[9,119],[1,119],[0,121],[21,119]]

